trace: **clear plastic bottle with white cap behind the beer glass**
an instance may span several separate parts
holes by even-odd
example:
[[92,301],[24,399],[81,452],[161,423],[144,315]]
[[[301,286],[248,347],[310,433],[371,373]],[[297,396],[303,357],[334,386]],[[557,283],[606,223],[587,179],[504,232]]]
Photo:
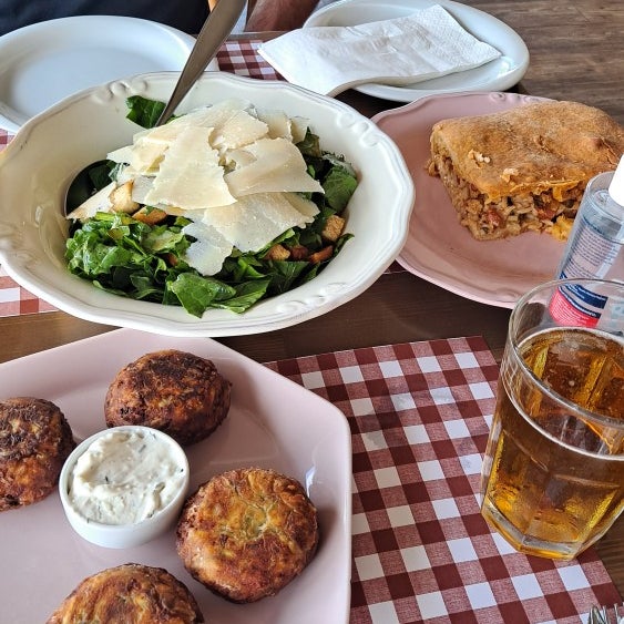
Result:
[[[555,277],[624,282],[624,156],[615,172],[601,173],[587,184]],[[584,287],[562,289],[551,311],[576,325],[600,323],[624,331],[624,301],[607,301]]]

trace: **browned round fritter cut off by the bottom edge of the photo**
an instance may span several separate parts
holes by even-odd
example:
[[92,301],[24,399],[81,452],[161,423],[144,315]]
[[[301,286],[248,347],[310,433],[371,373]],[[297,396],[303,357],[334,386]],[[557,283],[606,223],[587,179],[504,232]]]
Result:
[[194,624],[204,622],[186,585],[162,567],[126,563],[88,576],[47,624]]

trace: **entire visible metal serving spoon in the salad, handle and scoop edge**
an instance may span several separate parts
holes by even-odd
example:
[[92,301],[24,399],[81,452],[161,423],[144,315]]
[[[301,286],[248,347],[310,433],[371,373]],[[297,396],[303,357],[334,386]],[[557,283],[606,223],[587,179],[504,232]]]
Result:
[[[177,105],[214,59],[218,49],[232,32],[246,3],[247,0],[222,0],[216,3],[197,35],[197,41],[193,45],[184,68],[182,68],[180,78],[155,124],[156,126],[163,125],[171,117]],[[104,162],[91,163],[75,175],[65,194],[65,215],[89,197],[92,190],[89,172]]]

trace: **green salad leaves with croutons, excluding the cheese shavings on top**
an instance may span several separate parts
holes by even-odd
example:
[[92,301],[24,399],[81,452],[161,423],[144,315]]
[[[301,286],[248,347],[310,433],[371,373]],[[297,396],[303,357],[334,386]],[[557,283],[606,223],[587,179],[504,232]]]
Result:
[[[144,129],[154,125],[164,106],[141,96],[130,98],[127,105],[127,117]],[[356,190],[357,177],[342,156],[321,149],[309,127],[296,147],[307,173],[323,187],[323,192],[297,193],[316,205],[314,218],[304,226],[288,227],[258,249],[242,252],[233,246],[221,268],[205,275],[191,266],[190,248],[196,242],[190,234],[195,221],[192,211],[140,204],[132,212],[96,209],[85,218],[70,214],[69,270],[103,290],[183,306],[196,317],[208,308],[243,313],[263,298],[307,283],[351,237],[344,231],[340,215]],[[232,164],[219,166],[227,172]],[[113,160],[94,166],[89,173],[90,194],[117,184],[127,167],[129,163]],[[156,214],[158,218],[151,218]]]

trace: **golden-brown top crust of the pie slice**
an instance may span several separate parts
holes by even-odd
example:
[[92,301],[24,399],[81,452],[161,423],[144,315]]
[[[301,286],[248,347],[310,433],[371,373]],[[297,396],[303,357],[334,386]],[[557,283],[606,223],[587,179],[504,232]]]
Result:
[[624,127],[579,102],[534,102],[492,114],[443,120],[431,152],[448,155],[456,173],[489,201],[553,190],[564,196],[594,175],[615,170]]

